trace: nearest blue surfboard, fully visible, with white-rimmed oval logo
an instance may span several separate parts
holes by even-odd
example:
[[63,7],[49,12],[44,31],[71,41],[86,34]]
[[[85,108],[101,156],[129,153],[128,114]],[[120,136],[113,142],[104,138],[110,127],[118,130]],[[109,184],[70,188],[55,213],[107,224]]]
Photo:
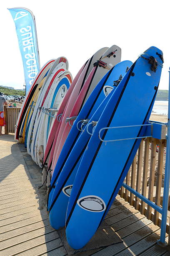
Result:
[[144,135],[150,118],[162,67],[158,48],[152,46],[141,54],[95,126],[67,207],[66,236],[74,249],[92,238],[125,179],[140,145],[138,137]]

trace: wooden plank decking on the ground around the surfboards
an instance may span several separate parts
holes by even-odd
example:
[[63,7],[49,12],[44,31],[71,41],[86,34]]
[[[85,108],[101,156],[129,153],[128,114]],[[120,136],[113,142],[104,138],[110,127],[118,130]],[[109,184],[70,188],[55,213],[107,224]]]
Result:
[[[67,255],[57,231],[50,227],[45,191],[38,189],[40,183],[40,169],[26,152],[20,151],[14,136],[0,137],[1,256]],[[160,228],[120,196],[105,221],[123,243],[80,255],[170,255],[157,245]]]

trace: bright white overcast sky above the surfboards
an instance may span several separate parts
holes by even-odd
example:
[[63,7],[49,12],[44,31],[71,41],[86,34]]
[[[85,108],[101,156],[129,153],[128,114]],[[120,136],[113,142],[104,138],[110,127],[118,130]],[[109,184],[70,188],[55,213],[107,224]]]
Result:
[[[40,3],[40,5],[39,5]],[[159,89],[168,90],[170,2],[158,0],[6,0],[0,3],[0,85],[23,89],[23,62],[13,18],[7,8],[28,8],[35,15],[40,66],[65,56],[75,77],[97,50],[113,44],[121,60],[135,61],[150,46],[163,51]]]

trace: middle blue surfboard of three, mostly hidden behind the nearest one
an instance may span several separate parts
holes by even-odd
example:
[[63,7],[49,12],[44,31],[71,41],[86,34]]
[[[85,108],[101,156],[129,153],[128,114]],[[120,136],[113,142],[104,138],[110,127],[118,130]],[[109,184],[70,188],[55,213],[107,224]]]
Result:
[[[114,90],[112,90],[103,100],[94,115],[92,115],[89,123],[100,118],[100,115],[107,105],[107,102],[110,100],[113,92]],[[91,132],[92,131],[90,131],[90,133]],[[91,137],[90,133],[87,133],[86,129],[81,133],[57,179],[49,210],[49,220],[52,228],[59,229],[65,226],[65,216],[72,184],[80,165],[82,155]]]

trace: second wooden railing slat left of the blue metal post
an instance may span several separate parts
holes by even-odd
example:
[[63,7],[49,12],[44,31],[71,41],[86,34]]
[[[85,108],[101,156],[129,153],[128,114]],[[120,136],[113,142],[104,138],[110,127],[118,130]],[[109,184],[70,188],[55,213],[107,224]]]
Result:
[[[151,158],[150,158],[150,176],[149,176],[149,189],[148,189],[148,199],[153,201],[153,187],[155,178],[155,157],[156,157],[156,139],[152,138],[151,144]],[[152,207],[148,205],[147,207],[147,218],[150,220],[152,213]]]

